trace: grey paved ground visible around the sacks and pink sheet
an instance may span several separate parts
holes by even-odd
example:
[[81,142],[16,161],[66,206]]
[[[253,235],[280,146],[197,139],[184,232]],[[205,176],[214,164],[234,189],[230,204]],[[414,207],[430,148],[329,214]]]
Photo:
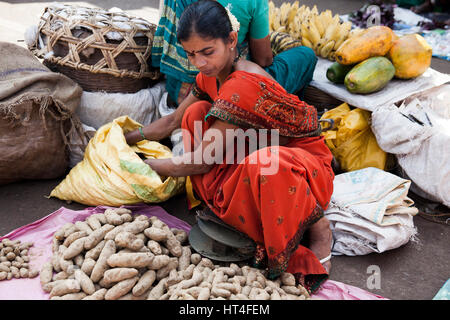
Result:
[[[280,5],[282,1],[274,2]],[[23,44],[17,41],[23,39],[23,32],[28,25],[19,21],[36,23],[48,3],[44,1],[0,2],[0,41]],[[159,0],[87,1],[84,3],[106,9],[120,7],[153,21],[157,21],[158,17]],[[330,9],[333,13],[346,14],[359,9],[364,1],[308,0],[301,1],[301,4],[309,6],[316,4],[319,10]],[[433,59],[432,68],[450,73],[450,63],[444,60]],[[85,208],[86,206],[81,204],[69,204],[58,199],[46,198],[63,178],[22,181],[0,186],[0,235],[34,222],[62,206],[73,210]],[[160,205],[170,214],[188,223],[192,224],[195,221],[194,216],[187,211],[186,199],[183,195]],[[418,230],[417,242],[409,242],[398,249],[381,254],[333,257],[330,279],[389,299],[432,299],[450,278],[450,229],[443,224],[425,220],[419,215],[414,217],[414,223]],[[369,277],[373,274],[370,270],[373,266],[380,270],[381,282],[378,288],[370,286]]]

